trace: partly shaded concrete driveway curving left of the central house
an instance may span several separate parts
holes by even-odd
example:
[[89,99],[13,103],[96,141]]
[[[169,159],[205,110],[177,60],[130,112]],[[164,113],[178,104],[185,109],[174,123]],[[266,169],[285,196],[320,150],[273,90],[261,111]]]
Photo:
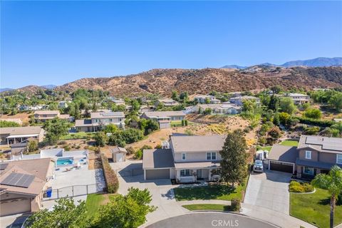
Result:
[[171,185],[171,181],[168,179],[144,180],[144,176],[140,174],[142,173],[141,160],[110,163],[110,166],[118,174],[120,182],[118,192],[120,194],[127,194],[130,187],[138,187],[141,190],[147,188],[150,191],[152,195],[151,204],[156,206],[157,210],[147,214],[147,222],[142,227],[187,212],[187,209],[176,202],[172,189],[177,187],[177,185]]

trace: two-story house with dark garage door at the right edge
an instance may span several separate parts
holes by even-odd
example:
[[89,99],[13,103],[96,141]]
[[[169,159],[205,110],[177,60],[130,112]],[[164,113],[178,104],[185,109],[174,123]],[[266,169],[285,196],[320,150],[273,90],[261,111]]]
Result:
[[269,152],[269,169],[313,179],[328,173],[333,165],[342,167],[342,138],[301,135],[298,147],[274,145]]

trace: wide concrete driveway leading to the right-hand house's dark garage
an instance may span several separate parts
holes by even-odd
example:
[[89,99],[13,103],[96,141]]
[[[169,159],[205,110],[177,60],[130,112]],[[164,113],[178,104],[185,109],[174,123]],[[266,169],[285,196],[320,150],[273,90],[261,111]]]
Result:
[[291,174],[286,172],[254,173],[249,177],[244,203],[289,214],[290,180]]

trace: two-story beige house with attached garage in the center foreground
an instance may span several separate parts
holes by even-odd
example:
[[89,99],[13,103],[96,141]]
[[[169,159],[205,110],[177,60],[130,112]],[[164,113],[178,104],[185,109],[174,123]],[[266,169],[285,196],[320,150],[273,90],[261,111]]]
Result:
[[175,179],[177,182],[214,180],[222,160],[224,135],[172,135],[163,149],[143,151],[145,180]]

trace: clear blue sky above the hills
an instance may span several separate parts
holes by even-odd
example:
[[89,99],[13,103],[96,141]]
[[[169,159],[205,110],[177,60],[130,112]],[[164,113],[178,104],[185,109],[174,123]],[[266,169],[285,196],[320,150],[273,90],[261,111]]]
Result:
[[341,1],[1,1],[1,88],[336,56]]

